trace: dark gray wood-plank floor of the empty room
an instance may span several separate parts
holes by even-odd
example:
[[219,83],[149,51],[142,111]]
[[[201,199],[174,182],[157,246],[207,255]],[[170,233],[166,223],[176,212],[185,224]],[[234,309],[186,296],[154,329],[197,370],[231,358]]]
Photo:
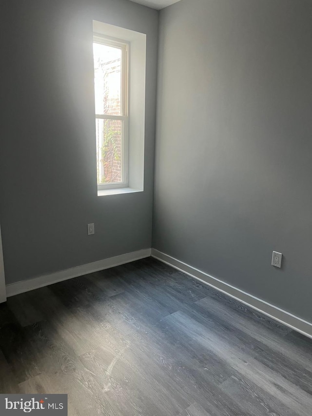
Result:
[[312,340],[155,259],[0,305],[0,393],[69,415],[311,416]]

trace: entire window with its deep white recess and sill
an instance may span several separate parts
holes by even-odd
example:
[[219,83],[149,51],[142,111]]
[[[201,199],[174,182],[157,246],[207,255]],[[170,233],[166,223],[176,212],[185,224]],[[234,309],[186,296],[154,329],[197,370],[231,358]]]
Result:
[[146,35],[93,20],[98,196],[144,188]]

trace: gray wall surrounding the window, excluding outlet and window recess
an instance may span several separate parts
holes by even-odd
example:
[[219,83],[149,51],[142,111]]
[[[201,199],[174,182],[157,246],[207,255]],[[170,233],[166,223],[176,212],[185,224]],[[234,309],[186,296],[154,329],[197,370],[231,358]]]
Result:
[[[158,12],[127,0],[2,0],[4,7],[6,283],[151,247]],[[147,34],[143,193],[97,196],[92,19]]]

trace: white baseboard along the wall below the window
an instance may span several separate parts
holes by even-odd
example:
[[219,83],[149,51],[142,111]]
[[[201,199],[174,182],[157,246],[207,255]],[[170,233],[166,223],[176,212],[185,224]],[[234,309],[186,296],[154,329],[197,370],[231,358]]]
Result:
[[47,286],[49,284],[58,283],[73,277],[87,275],[88,273],[98,272],[99,270],[109,269],[111,267],[119,266],[120,264],[130,263],[131,261],[150,256],[150,248],[138,250],[132,253],[121,254],[120,256],[98,260],[93,263],[83,264],[82,266],[72,267],[71,269],[61,270],[60,272],[51,273],[50,275],[35,277],[29,280],[22,280],[20,282],[6,285],[6,296],[10,297],[23,292],[29,292],[30,290],[38,289],[39,287]]

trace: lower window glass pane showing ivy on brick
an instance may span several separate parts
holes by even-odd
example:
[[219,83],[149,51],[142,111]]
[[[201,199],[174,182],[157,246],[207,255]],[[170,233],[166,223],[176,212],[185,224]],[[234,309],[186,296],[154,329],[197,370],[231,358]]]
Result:
[[122,182],[122,121],[96,119],[98,183]]

